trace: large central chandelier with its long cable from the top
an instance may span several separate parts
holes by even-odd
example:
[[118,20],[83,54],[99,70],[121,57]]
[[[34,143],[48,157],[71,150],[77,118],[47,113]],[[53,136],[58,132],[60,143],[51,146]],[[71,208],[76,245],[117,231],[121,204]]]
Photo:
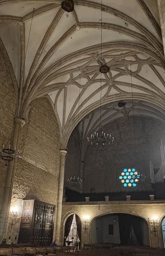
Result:
[[102,0],[101,0],[101,58],[100,58],[100,124],[99,130],[97,132],[91,133],[87,137],[87,141],[91,146],[94,147],[106,147],[114,144],[114,136],[111,133],[104,132],[102,130],[102,122],[101,122],[101,107],[102,107],[102,74],[106,74],[109,72],[109,67],[106,65],[105,60],[102,58]]

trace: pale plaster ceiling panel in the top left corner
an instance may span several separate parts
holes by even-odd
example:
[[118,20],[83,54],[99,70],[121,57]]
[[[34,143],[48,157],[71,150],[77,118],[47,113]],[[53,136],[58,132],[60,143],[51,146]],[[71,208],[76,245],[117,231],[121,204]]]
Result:
[[[12,1],[14,2],[14,1]],[[34,3],[31,1],[15,1],[16,3],[0,3],[0,15],[14,15],[23,17],[29,12],[33,11],[33,8],[37,9],[42,6],[45,6],[46,3]]]

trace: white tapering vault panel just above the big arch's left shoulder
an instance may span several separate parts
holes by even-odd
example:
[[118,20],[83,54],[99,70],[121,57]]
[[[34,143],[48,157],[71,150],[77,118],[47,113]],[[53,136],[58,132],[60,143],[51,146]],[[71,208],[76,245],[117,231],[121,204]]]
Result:
[[[79,93],[82,91],[82,89],[79,89],[77,86],[74,84],[71,84],[68,87],[67,90],[67,103],[66,103],[66,120],[68,118],[68,115],[72,109],[73,104],[75,103],[76,99],[78,98],[78,106],[80,104],[80,99],[79,99]],[[75,111],[76,109],[74,109]],[[73,111],[73,112],[74,112]]]

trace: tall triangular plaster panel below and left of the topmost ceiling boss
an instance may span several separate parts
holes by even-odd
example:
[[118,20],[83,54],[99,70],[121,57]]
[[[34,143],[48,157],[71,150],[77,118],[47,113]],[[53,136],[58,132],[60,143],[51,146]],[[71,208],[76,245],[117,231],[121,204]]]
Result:
[[[29,19],[25,22],[25,51],[28,44],[28,50],[26,54],[26,61],[25,61],[25,77],[28,76],[30,67],[32,65],[32,61],[37,53],[37,50],[41,44],[41,41],[50,26],[54,16],[56,16],[58,10],[51,10],[46,13],[43,13],[39,16],[35,16],[32,19]],[[32,23],[32,27],[31,27]],[[31,32],[30,32],[31,28]],[[30,37],[29,37],[30,33]],[[46,50],[44,49],[43,52],[45,53]]]

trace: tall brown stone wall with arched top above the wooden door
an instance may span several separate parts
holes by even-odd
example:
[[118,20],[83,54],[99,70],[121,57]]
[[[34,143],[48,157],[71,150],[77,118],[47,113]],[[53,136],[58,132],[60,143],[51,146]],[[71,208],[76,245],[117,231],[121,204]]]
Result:
[[[22,199],[37,199],[56,205],[60,170],[60,133],[57,119],[46,98],[34,100],[21,130],[10,212],[8,243],[18,239]],[[14,223],[14,224],[13,224]]]

